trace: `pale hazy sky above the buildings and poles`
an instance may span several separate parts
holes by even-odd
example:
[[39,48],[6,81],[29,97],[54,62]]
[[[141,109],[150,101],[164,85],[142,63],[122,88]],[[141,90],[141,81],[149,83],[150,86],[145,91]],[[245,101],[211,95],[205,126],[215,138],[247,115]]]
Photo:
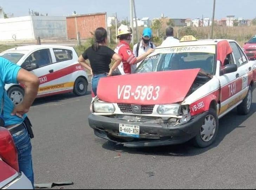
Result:
[[[216,0],[215,18],[221,19],[227,15],[237,18],[255,18],[256,0]],[[138,18],[159,18],[162,13],[170,18],[202,18],[212,17],[213,0],[135,0]],[[118,20],[130,18],[129,0],[0,0],[0,6],[6,13],[14,16],[28,15],[28,9],[33,9],[49,16],[107,12],[113,16],[117,12]]]

